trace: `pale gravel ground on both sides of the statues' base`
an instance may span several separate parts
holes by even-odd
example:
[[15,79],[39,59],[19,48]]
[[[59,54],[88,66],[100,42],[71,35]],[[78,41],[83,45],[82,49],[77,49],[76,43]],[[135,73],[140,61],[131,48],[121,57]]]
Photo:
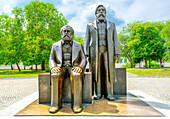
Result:
[[[143,78],[127,73],[127,89],[141,90],[170,105],[170,78]],[[37,77],[0,79],[0,110],[37,90]]]

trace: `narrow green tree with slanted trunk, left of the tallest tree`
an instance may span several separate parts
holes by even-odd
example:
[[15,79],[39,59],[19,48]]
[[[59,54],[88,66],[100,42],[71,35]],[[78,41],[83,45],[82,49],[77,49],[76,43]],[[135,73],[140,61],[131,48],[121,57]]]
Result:
[[20,63],[23,57],[23,40],[24,40],[24,31],[23,27],[25,24],[24,13],[22,8],[14,8],[12,10],[12,14],[15,15],[14,18],[11,18],[11,24],[9,29],[9,38],[8,38],[8,46],[6,47],[6,63],[7,64],[16,64],[18,70],[20,67],[18,63]]

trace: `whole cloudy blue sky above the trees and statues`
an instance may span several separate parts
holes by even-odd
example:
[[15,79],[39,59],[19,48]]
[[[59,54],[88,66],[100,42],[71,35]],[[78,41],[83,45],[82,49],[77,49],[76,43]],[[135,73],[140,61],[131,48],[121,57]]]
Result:
[[[33,0],[0,0],[0,14],[11,15],[14,7],[24,8]],[[169,0],[39,0],[53,4],[63,13],[76,36],[84,37],[87,23],[95,20],[99,4],[106,7],[106,19],[114,22],[117,31],[134,21],[166,21],[170,19]],[[11,16],[12,17],[12,16]]]

